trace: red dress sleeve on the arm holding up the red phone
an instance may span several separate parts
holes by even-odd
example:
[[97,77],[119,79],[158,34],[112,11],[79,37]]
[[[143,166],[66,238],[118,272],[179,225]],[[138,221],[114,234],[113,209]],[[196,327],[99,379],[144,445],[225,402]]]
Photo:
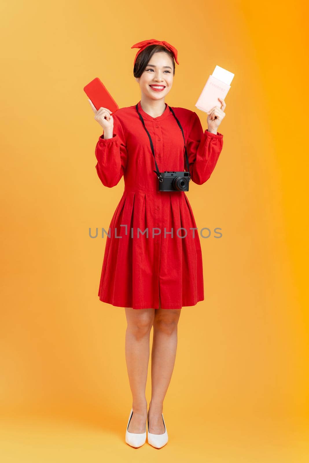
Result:
[[112,138],[105,139],[104,135],[101,135],[95,147],[95,156],[98,161],[95,168],[103,185],[109,188],[117,185],[127,165],[124,131],[115,114],[113,119]]

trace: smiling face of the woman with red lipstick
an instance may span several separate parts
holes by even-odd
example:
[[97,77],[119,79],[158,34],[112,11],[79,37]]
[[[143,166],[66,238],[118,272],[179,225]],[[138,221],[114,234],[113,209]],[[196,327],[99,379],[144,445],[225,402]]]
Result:
[[[173,85],[173,62],[164,51],[158,51],[151,56],[141,77],[136,77],[140,84],[141,92],[152,100],[164,98]],[[155,90],[151,86],[164,87]],[[160,90],[160,91],[159,91]]]

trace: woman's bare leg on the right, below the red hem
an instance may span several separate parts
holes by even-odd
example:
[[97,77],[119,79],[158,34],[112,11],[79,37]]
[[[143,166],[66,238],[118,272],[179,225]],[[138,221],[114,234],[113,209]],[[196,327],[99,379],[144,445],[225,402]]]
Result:
[[165,432],[161,414],[176,358],[177,326],[181,309],[156,309],[151,352],[151,400],[149,403],[149,432]]

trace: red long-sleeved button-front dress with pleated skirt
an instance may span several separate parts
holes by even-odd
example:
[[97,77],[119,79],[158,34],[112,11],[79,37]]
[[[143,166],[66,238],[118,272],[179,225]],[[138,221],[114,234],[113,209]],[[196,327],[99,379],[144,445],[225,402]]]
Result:
[[[171,107],[184,131],[191,181],[201,185],[216,166],[223,135],[203,131],[195,112]],[[156,118],[140,101],[138,110],[159,171],[187,170],[184,139],[168,105]],[[124,176],[124,193],[106,230],[110,238],[104,235],[99,300],[133,309],[158,309],[159,297],[162,309],[194,306],[204,300],[204,281],[200,229],[192,230],[197,225],[189,200],[184,191],[158,190],[154,156],[135,105],[118,109],[113,119],[113,137],[101,135],[96,145],[96,169],[109,188]]]

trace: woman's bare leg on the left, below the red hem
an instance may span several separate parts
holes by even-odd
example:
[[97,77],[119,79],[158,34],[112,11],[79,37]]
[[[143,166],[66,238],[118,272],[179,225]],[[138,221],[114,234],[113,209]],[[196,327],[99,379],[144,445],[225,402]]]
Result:
[[132,392],[133,415],[129,432],[145,432],[147,420],[146,382],[149,363],[149,336],[154,322],[154,309],[125,307],[125,359]]

